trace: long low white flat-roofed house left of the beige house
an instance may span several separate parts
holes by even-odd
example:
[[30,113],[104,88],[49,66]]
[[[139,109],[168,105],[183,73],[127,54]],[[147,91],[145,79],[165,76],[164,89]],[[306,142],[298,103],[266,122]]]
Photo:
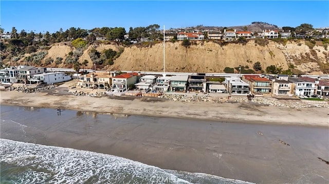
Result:
[[64,72],[48,72],[35,74],[28,80],[30,81],[30,84],[53,84],[71,80],[71,76],[66,75]]

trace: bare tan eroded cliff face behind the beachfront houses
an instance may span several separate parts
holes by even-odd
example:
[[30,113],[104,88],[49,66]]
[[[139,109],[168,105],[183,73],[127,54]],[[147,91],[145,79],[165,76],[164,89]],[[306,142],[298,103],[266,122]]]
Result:
[[[309,41],[305,40],[288,40],[281,44],[268,40],[264,46],[255,43],[255,40],[249,40],[245,45],[203,40],[193,41],[188,48],[182,46],[181,43],[181,41],[166,42],[165,58],[168,72],[220,73],[224,71],[225,67],[233,68],[239,65],[252,69],[255,62],[260,62],[263,70],[270,65],[282,67],[283,70],[287,70],[289,65],[294,65],[294,73],[329,73],[329,52],[320,41],[316,42],[313,49],[310,49]],[[118,51],[119,48],[124,48],[121,55],[114,60],[114,65],[97,66],[98,69],[163,71],[162,42],[131,46],[123,46],[114,42],[89,44],[79,57],[79,62],[84,59],[88,60],[85,69],[94,68],[88,54],[89,50],[93,48],[99,52],[104,49]],[[46,62],[46,58],[56,60],[57,57],[62,57],[64,61],[69,52],[74,50],[70,43],[53,44],[47,49],[47,54],[38,66],[72,68],[72,64],[65,64],[65,62],[61,64],[53,62],[50,65],[49,62]],[[45,49],[39,49],[36,53],[42,51]],[[25,56],[28,55],[30,54]],[[17,64],[25,64],[24,57]]]

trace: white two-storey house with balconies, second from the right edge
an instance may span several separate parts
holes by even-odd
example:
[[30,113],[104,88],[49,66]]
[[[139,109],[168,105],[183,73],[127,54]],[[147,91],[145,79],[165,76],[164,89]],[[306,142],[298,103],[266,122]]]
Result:
[[315,88],[315,79],[309,79],[309,77],[288,77],[288,81],[291,81],[291,88],[294,89],[294,94],[296,96],[310,96],[314,95]]

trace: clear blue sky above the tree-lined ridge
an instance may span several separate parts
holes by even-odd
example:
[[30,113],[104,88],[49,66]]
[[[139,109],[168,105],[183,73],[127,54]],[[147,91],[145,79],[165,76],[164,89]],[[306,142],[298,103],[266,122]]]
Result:
[[0,1],[5,31],[50,33],[70,27],[168,28],[242,26],[260,21],[279,27],[329,26],[329,1]]

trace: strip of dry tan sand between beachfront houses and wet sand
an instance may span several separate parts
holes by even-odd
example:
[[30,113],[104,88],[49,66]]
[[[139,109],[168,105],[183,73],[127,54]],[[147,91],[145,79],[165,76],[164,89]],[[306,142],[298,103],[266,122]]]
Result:
[[288,108],[256,103],[172,101],[155,97],[75,96],[68,88],[56,87],[38,93],[1,91],[1,105],[58,108],[153,117],[173,117],[263,125],[329,127],[328,108]]

